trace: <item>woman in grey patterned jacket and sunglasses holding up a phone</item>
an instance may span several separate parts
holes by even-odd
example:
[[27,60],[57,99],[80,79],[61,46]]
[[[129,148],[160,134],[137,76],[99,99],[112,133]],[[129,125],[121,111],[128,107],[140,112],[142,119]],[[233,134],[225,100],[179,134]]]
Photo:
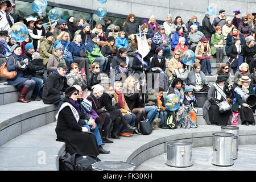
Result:
[[[72,63],[70,66],[70,73],[67,75],[68,85],[79,85],[82,90],[87,88],[86,75],[84,71],[79,71],[79,64]],[[84,70],[84,69],[83,69]]]

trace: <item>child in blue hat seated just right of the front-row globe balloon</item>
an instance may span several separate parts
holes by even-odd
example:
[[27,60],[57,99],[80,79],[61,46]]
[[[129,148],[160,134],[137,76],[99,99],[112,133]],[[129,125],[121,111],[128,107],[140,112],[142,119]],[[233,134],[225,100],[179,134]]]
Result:
[[197,114],[197,109],[195,107],[197,101],[195,94],[193,93],[193,88],[191,85],[185,85],[185,98],[183,102],[186,106],[190,107],[190,116],[191,116],[191,121],[195,123],[195,125],[192,125],[191,127],[197,127],[196,125],[196,114]]

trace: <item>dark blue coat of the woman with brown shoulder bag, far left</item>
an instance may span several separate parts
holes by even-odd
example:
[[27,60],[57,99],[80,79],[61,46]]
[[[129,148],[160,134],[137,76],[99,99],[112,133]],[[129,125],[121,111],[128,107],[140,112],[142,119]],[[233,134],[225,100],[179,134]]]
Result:
[[8,85],[16,86],[22,82],[25,82],[27,78],[23,77],[22,69],[18,69],[18,66],[16,64],[13,64],[14,63],[13,58],[15,59],[15,62],[22,61],[23,59],[22,59],[22,56],[17,56],[15,55],[15,53],[13,53],[13,55],[11,55],[11,57],[7,61],[7,70],[9,72],[15,71],[15,69],[17,70],[17,75],[15,78],[7,79]]

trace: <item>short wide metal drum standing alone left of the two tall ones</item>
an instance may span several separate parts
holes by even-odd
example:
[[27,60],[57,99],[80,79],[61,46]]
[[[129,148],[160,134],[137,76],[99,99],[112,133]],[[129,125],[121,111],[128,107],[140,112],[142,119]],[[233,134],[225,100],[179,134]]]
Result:
[[172,167],[192,166],[193,143],[182,140],[166,143],[167,159],[166,164]]

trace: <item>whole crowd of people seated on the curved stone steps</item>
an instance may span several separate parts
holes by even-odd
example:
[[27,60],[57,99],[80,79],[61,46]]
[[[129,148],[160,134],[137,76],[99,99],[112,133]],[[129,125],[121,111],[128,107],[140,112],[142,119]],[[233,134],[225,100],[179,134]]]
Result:
[[[4,1],[0,10],[7,12],[13,6]],[[242,18],[240,14],[234,12],[231,19],[220,10],[211,23],[205,13],[202,26],[194,15],[184,23],[179,15],[172,22],[168,14],[163,25],[152,15],[139,25],[141,32],[134,14],[122,27],[109,18],[92,27],[83,18],[76,23],[69,16],[58,20],[54,30],[42,27],[43,19],[18,17],[15,22],[28,27],[27,39],[18,45],[11,38],[11,20],[0,31],[0,63],[7,61],[7,71],[16,71],[7,84],[20,90],[19,102],[30,102],[26,96],[33,90],[32,101],[59,108],[57,139],[67,143],[71,154],[109,154],[104,143],[141,134],[138,127],[143,120],[152,130],[197,127],[197,92],[208,94],[203,107],[208,125],[229,125],[234,113],[240,113],[242,124],[255,125],[254,106],[242,99],[246,94],[256,96],[255,14]],[[7,14],[0,16],[4,23]],[[149,50],[144,57],[138,45],[141,33]],[[196,57],[190,66],[182,60],[188,49]],[[213,85],[206,76],[206,72],[214,75],[212,57],[222,63]],[[106,77],[111,81],[102,81]],[[149,97],[152,92],[155,100]],[[179,96],[177,110],[165,107],[163,92]],[[226,100],[231,100],[232,110],[223,114],[218,107]]]

